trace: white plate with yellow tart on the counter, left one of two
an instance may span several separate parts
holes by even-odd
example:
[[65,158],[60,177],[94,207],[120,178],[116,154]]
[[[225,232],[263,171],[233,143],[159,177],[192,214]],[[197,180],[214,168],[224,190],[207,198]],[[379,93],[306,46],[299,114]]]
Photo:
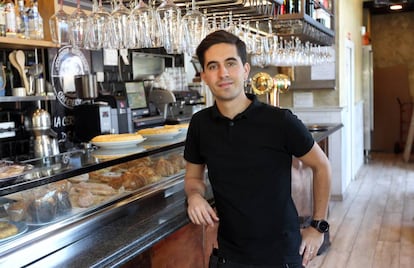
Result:
[[130,148],[145,141],[145,139],[138,133],[104,134],[92,138],[91,143],[101,148],[120,149]]

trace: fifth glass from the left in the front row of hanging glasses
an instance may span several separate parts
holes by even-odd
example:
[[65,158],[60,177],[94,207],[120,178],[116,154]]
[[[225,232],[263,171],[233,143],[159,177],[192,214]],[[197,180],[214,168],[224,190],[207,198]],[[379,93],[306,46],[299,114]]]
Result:
[[139,3],[131,11],[130,20],[134,24],[135,40],[137,48],[160,47],[162,34],[158,29],[155,10],[139,0]]

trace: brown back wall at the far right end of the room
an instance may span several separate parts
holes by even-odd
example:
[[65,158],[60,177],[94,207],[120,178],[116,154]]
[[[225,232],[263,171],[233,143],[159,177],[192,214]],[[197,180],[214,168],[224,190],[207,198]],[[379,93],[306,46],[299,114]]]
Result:
[[[408,122],[400,118],[403,103],[414,96],[414,13],[371,16],[374,58],[373,150],[398,152],[405,145]],[[401,136],[402,134],[402,136]]]

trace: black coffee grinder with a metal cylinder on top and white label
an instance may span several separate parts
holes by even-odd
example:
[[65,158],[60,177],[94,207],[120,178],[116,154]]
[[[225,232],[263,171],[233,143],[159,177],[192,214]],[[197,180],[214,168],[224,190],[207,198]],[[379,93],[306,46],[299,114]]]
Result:
[[98,97],[96,75],[75,76],[75,88],[78,98],[83,101],[73,108],[74,141],[89,142],[95,136],[111,133],[111,106],[94,101]]

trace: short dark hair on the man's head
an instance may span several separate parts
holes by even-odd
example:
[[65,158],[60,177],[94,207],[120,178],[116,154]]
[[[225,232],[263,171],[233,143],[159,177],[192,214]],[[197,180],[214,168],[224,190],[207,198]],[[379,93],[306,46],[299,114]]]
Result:
[[212,32],[209,35],[207,35],[197,47],[196,54],[198,57],[198,61],[200,62],[203,70],[204,70],[204,53],[211,46],[220,44],[220,43],[235,45],[237,48],[237,54],[239,55],[242,63],[245,64],[247,62],[246,44],[234,34],[229,33],[225,30],[218,30],[218,31]]

